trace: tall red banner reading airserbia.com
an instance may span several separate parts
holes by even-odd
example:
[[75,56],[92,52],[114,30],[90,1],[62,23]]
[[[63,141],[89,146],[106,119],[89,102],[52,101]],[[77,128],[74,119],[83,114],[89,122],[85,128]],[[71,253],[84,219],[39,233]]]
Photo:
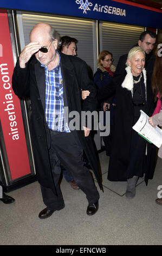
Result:
[[20,100],[12,90],[14,60],[7,13],[0,11],[0,119],[12,180],[30,174]]

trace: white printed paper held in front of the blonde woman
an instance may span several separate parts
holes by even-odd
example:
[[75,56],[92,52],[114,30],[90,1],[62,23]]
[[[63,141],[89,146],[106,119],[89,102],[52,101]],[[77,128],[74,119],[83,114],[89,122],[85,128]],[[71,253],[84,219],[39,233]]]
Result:
[[135,131],[144,137],[147,141],[153,143],[158,148],[162,144],[162,131],[158,126],[151,126],[148,123],[148,115],[144,111],[140,110],[141,115],[137,123],[132,127]]

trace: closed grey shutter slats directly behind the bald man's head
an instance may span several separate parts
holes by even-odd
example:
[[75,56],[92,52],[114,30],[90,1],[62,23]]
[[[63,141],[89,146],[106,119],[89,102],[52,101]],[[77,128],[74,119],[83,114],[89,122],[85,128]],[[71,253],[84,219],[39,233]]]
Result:
[[72,19],[71,17],[51,16],[44,14],[22,13],[22,26],[24,32],[24,42],[27,45],[30,42],[30,31],[38,22],[46,22],[53,26],[60,36],[68,35],[76,38],[77,56],[85,60],[93,72],[96,69],[94,60],[94,21]]

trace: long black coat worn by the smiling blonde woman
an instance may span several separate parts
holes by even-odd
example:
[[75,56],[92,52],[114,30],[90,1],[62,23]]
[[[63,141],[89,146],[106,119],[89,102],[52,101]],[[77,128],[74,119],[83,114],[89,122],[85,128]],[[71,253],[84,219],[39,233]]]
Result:
[[[108,179],[111,181],[127,180],[126,170],[129,162],[134,108],[131,90],[121,87],[125,76],[126,71],[123,75],[115,77],[111,84],[108,84],[108,86],[101,89],[98,93],[99,100],[112,94],[116,95],[116,108],[114,111],[114,131],[112,139],[113,143],[108,168]],[[151,88],[151,75],[149,74],[147,75],[146,93],[147,103],[145,113],[148,116],[151,116],[153,114],[155,104]],[[145,173],[146,185],[148,179],[153,178],[155,168],[155,151],[155,145],[147,143],[147,169]]]

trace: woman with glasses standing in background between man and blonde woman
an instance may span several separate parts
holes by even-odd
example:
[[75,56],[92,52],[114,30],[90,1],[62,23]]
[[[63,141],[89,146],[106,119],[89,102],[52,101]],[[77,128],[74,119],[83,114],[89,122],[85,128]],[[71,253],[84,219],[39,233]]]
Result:
[[[114,76],[115,66],[113,63],[113,55],[109,51],[102,51],[99,54],[98,58],[98,70],[94,74],[94,82],[98,89],[107,86]],[[105,112],[110,111],[110,134],[108,136],[103,136],[103,142],[105,143],[106,155],[109,156],[111,152],[111,144],[112,144],[112,131],[113,131],[113,108],[116,105],[115,97],[109,97],[104,102],[101,102],[101,111],[103,113],[103,124],[105,123]]]

